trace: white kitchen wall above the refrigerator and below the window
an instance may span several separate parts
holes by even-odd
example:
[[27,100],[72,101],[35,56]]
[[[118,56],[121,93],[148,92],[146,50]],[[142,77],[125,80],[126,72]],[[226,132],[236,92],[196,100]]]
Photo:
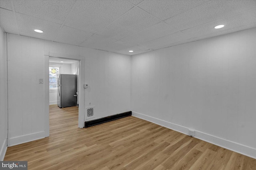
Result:
[[[49,66],[54,66],[56,63],[50,63]],[[73,74],[74,70],[71,70],[72,64],[57,64],[60,66],[60,74]],[[72,68],[73,69],[73,68]],[[78,69],[78,68],[77,68]],[[57,89],[50,89],[49,91],[49,104],[57,104]]]

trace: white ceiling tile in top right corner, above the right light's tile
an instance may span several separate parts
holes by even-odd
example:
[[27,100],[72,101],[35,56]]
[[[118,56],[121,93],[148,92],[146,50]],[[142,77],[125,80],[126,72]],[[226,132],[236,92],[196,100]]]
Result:
[[256,0],[211,0],[165,22],[181,31],[252,8],[256,8]]

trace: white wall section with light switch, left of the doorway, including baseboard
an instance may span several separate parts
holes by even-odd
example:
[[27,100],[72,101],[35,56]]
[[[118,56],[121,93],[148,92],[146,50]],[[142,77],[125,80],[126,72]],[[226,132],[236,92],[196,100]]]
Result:
[[10,146],[45,136],[44,84],[39,78],[44,78],[44,40],[9,34]]

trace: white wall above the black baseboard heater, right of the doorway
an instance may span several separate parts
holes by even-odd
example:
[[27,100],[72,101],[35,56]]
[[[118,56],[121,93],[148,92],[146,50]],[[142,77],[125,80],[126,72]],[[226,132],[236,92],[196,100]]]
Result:
[[130,111],[131,57],[90,50],[85,61],[86,107],[95,106],[90,120]]

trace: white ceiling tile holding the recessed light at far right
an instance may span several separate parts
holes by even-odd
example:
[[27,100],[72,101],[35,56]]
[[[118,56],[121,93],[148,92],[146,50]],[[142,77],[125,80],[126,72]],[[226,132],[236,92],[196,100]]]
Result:
[[[245,26],[247,24],[253,24],[253,23],[256,23],[256,17],[253,16],[253,11],[249,10],[246,12],[241,12],[239,14],[228,16],[226,18],[222,18],[220,20],[209,22],[207,24],[189,28],[187,30],[183,30],[182,32],[189,35],[192,38],[196,38],[196,37],[205,36],[208,34],[214,34],[224,30],[230,30],[233,28],[237,28],[240,26]],[[214,26],[217,26],[220,24],[223,24],[225,26],[220,29],[214,28]]]

